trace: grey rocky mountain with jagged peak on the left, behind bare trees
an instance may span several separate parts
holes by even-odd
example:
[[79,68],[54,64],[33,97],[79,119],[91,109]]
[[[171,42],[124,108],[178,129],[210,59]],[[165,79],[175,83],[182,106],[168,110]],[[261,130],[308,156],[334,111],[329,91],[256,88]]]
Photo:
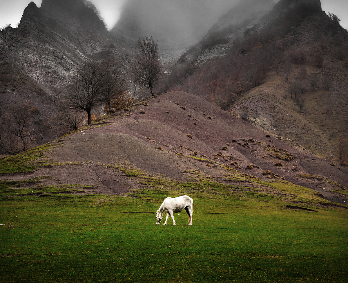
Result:
[[61,134],[54,100],[77,66],[108,56],[122,60],[96,12],[83,0],[43,0],[40,8],[31,2],[17,28],[0,31],[0,111],[29,100],[37,109],[31,124],[46,129],[39,142]]

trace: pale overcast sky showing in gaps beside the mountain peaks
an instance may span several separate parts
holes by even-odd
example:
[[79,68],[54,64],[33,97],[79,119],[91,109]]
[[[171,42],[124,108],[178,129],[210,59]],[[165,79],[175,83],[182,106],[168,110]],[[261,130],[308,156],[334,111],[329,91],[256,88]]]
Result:
[[[107,28],[110,30],[118,21],[122,5],[126,0],[91,0],[100,10],[105,20]],[[144,0],[146,1],[146,0]],[[197,0],[197,3],[203,0]],[[242,0],[243,1],[243,0]],[[17,27],[21,20],[25,7],[31,0],[0,0],[0,27],[12,24]],[[42,0],[32,0],[38,7],[41,6]],[[276,1],[277,2],[277,1]],[[348,1],[347,0],[321,0],[322,9],[331,12],[341,19],[341,26],[348,28]]]

